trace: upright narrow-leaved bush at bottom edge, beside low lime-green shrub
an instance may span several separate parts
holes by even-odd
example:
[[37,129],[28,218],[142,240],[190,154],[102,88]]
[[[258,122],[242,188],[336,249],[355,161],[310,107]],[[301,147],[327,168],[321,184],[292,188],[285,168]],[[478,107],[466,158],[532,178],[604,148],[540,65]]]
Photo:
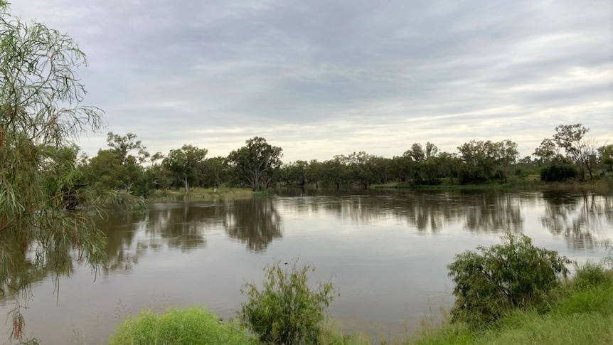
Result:
[[[297,261],[277,261],[264,268],[262,290],[247,283],[241,290],[249,299],[241,304],[239,318],[260,337],[272,344],[317,344],[324,321],[324,308],[338,296],[331,282],[319,282],[311,289],[310,265],[297,268]],[[283,266],[282,266],[283,265]]]

